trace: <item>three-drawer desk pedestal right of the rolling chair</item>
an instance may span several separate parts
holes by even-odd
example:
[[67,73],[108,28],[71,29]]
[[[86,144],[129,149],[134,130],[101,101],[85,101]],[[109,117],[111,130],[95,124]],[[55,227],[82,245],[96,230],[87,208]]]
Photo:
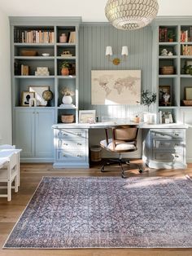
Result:
[[143,130],[143,161],[150,168],[185,169],[185,129]]

